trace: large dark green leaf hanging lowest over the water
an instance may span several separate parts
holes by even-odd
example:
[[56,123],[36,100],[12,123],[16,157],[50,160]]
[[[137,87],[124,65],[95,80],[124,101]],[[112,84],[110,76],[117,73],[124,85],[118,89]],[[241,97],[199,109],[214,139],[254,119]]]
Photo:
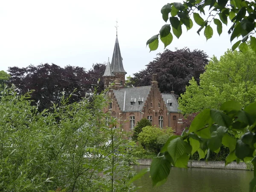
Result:
[[154,157],[150,166],[150,175],[153,182],[153,186],[157,183],[165,180],[171,170],[171,160],[167,155],[160,157]]

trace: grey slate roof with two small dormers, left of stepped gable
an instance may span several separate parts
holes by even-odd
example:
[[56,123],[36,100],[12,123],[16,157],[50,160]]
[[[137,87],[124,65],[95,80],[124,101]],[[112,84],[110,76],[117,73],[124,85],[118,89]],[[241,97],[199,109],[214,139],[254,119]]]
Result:
[[[145,104],[145,100],[151,90],[151,86],[145,87],[131,87],[119,90],[113,90],[116,96],[119,107],[123,112],[142,111]],[[143,98],[143,102],[139,105],[139,97]],[[131,101],[134,101],[131,105]]]

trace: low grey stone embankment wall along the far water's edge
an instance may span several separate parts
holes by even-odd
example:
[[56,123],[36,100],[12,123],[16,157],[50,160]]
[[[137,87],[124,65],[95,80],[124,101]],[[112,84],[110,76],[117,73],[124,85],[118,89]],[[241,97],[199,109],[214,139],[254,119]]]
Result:
[[[152,159],[139,159],[137,161],[140,165],[151,165]],[[236,162],[232,162],[225,167],[224,161],[192,161],[188,162],[188,167],[191,168],[208,168],[208,169],[238,169],[238,170],[246,170],[246,164],[244,162],[240,162],[237,164]]]

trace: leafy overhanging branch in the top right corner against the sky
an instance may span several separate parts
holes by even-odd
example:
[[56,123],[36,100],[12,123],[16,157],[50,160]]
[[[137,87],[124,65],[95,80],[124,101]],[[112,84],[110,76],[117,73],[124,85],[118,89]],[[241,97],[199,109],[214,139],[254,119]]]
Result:
[[[209,11],[208,11],[209,7]],[[209,12],[205,13],[205,10]],[[156,50],[159,44],[159,38],[164,46],[172,43],[173,35],[180,38],[182,26],[189,30],[194,22],[198,24],[198,35],[204,29],[206,39],[212,38],[212,23],[216,25],[219,35],[222,33],[222,24],[227,25],[228,20],[232,26],[227,31],[230,36],[230,42],[235,38],[239,41],[233,44],[232,50],[239,47],[241,52],[246,52],[248,46],[246,41],[250,38],[250,47],[256,52],[255,20],[256,20],[256,2],[248,0],[186,0],[183,3],[167,3],[161,9],[163,20],[170,24],[165,24],[157,35],[152,36],[147,45],[150,51]],[[199,14],[200,13],[200,14]],[[170,17],[169,17],[170,16]],[[202,17],[204,18],[202,18]],[[172,30],[172,32],[171,32]]]

